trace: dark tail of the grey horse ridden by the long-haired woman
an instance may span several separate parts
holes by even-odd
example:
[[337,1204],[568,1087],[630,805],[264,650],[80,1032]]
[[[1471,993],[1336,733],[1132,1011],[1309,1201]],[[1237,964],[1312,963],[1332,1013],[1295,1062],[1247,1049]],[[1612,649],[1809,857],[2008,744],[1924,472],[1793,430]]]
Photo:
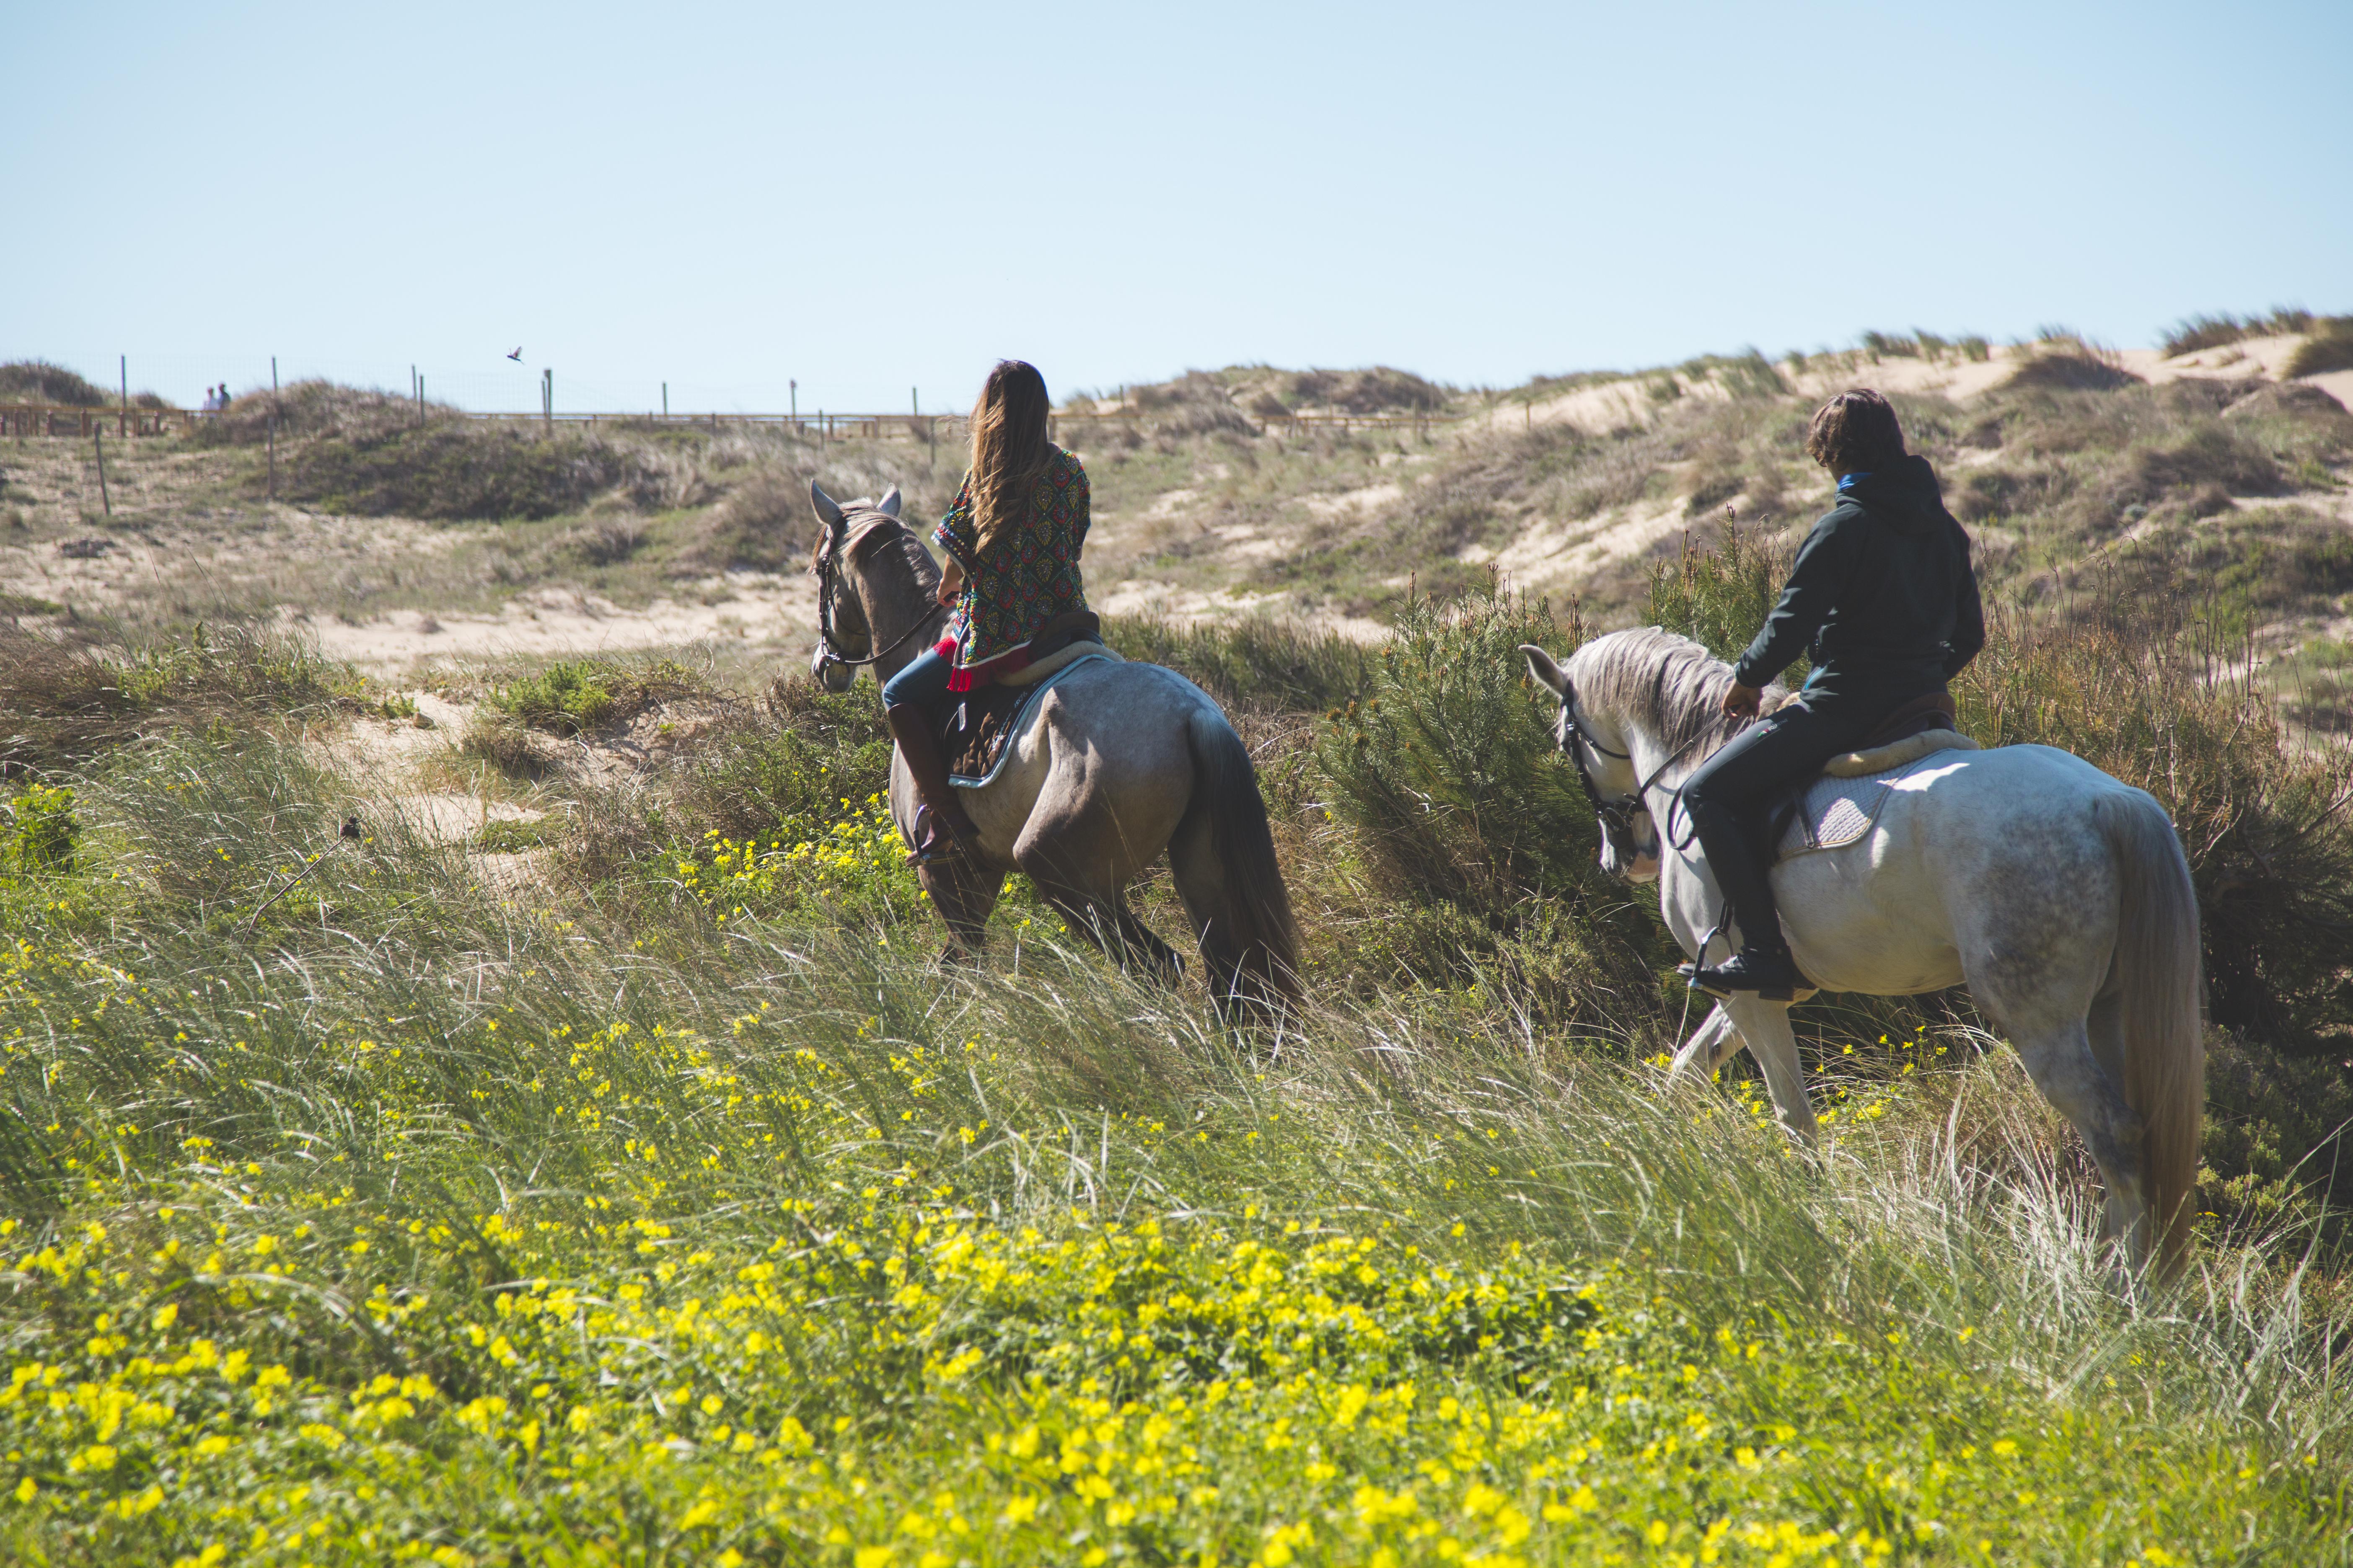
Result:
[[1273,1011],[1299,999],[1299,924],[1259,771],[1226,715],[1207,703],[1188,719],[1186,743],[1193,802],[1169,839],[1169,872],[1200,933],[1212,992]]

